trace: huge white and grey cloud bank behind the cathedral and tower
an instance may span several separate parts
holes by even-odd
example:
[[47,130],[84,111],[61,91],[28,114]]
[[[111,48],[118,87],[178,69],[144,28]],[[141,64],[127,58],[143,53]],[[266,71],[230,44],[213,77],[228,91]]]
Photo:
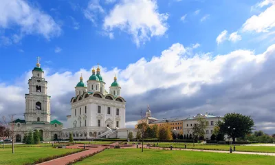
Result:
[[[192,47],[197,46],[192,45]],[[253,116],[255,120],[269,122],[268,119],[261,118],[271,113],[274,107],[272,91],[275,85],[274,76],[271,74],[274,67],[271,64],[275,61],[275,45],[270,46],[263,54],[254,54],[250,50],[236,50],[215,57],[209,54],[195,54],[186,58],[188,49],[190,47],[175,43],[164,50],[160,56],[154,56],[149,61],[141,58],[125,69],[116,67],[110,70],[101,69],[106,88],[113,82],[113,74],[117,74],[118,82],[122,87],[122,96],[129,98],[126,111],[127,126],[133,126],[135,120],[139,119],[140,115],[135,111],[139,111],[140,107],[135,106],[141,106],[141,104],[145,106],[153,104],[153,107],[156,107],[152,109],[153,115],[159,115],[159,118],[169,118],[175,114],[186,117],[186,114],[193,115],[193,113],[208,110],[223,115],[243,109],[242,112],[245,115],[253,115],[257,112],[257,115]],[[91,76],[91,70],[80,69],[78,72],[54,74],[48,74],[50,69],[44,70],[45,78],[49,83],[48,92],[52,96],[52,113],[56,114],[52,118],[65,120],[65,115],[69,114],[67,111],[70,108],[69,99],[74,96],[74,87],[79,81],[80,74],[83,74],[86,82]],[[11,83],[0,84],[2,111],[8,113],[10,109],[14,109],[14,112],[23,115],[24,94],[28,92],[30,76],[31,72],[26,72],[19,80],[21,83],[14,83],[17,86]],[[157,90],[161,91],[157,93]],[[201,96],[203,98],[197,98]],[[136,102],[130,102],[131,97]],[[146,98],[145,101],[140,100],[143,97]],[[190,104],[190,107],[179,106],[180,103],[176,98],[179,98],[179,102],[186,100],[183,106]],[[165,104],[168,106],[164,107]],[[177,105],[180,108],[175,109],[171,105]],[[267,106],[270,106],[271,110]],[[271,120],[273,120],[272,117]]]

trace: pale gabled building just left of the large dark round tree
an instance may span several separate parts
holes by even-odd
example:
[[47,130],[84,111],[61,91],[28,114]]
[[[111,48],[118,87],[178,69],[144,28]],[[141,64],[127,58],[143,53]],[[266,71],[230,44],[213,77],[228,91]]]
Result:
[[190,137],[190,135],[192,134],[192,127],[197,124],[197,119],[198,118],[204,118],[206,119],[206,134],[204,135],[204,139],[209,140],[211,135],[214,133],[214,126],[215,123],[218,122],[219,120],[221,120],[220,116],[215,116],[209,113],[206,113],[205,115],[202,114],[197,114],[193,117],[189,117],[183,120],[183,132],[184,132],[184,136]]

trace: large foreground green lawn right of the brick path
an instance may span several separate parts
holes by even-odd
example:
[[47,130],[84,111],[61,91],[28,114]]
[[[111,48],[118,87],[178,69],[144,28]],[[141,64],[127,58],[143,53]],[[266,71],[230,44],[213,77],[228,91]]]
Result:
[[259,165],[274,164],[275,157],[264,155],[241,155],[229,153],[207,153],[196,151],[164,151],[144,149],[107,149],[76,164],[184,164],[184,165]]

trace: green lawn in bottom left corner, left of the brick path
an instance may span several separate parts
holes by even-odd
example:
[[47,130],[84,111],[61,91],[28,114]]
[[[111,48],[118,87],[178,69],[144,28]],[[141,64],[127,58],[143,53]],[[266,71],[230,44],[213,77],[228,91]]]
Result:
[[78,151],[78,149],[18,147],[14,148],[14,154],[12,154],[12,148],[0,148],[0,164],[16,165],[32,163],[40,158],[71,153],[73,151]]

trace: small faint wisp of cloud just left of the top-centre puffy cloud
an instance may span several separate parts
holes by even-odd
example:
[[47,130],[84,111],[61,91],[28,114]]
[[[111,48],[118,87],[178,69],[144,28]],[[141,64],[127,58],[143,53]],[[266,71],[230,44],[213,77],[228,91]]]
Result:
[[99,0],[91,0],[88,3],[88,6],[83,10],[84,16],[86,19],[89,19],[94,25],[97,25],[98,14],[103,14],[104,9],[100,5]]

